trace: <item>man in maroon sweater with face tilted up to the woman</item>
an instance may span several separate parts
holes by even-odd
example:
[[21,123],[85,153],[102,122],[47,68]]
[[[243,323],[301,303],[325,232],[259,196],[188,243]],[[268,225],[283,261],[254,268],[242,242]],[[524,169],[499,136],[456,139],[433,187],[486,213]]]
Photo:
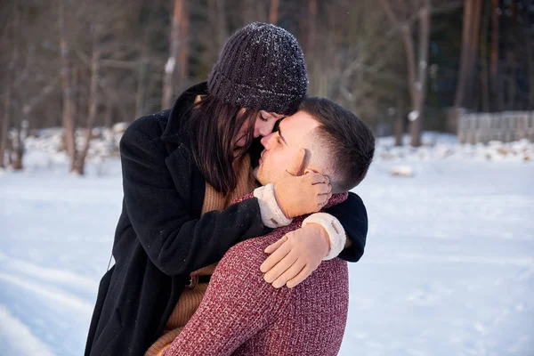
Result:
[[[282,120],[278,132],[263,137],[262,143],[265,150],[255,175],[264,189],[287,174],[304,150],[297,174],[327,175],[336,193],[330,206],[347,198],[347,191],[363,180],[375,150],[368,125],[320,98],[304,100],[299,111]],[[291,231],[319,223],[320,218],[301,216],[287,227],[232,247],[214,271],[197,312],[163,354],[336,355],[348,309],[346,263],[338,258],[325,261],[295,288],[281,287],[276,280],[274,287],[264,283],[269,273],[263,276],[258,268],[264,253],[274,250],[269,247],[273,242],[284,235],[291,239]],[[343,231],[339,223],[330,228]],[[328,239],[323,242],[328,244]]]

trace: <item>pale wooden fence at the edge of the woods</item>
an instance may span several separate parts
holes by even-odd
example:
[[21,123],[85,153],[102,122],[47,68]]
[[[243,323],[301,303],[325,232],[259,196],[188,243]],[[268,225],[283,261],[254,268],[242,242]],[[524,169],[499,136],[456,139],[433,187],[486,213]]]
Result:
[[464,113],[458,117],[458,140],[462,143],[487,143],[493,140],[534,142],[534,111]]

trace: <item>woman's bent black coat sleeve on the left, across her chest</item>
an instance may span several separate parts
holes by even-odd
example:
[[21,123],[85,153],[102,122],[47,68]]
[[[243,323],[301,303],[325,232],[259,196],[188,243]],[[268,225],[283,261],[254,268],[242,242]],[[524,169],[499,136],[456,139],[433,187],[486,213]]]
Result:
[[[148,124],[148,125],[147,125]],[[256,198],[202,217],[191,216],[190,171],[184,160],[177,186],[166,166],[166,149],[154,139],[154,122],[136,120],[120,142],[125,209],[137,239],[160,271],[188,274],[219,261],[241,240],[270,231]],[[189,181],[188,181],[189,179]]]

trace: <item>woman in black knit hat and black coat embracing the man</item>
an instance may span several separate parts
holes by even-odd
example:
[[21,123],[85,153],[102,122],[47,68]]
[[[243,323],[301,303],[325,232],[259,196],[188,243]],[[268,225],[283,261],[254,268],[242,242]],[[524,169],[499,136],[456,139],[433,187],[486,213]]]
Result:
[[[330,194],[322,176],[288,174],[275,187],[276,199],[262,193],[229,206],[255,188],[254,139],[294,113],[306,89],[295,37],[254,23],[231,36],[207,83],[182,93],[173,109],[130,125],[120,143],[124,202],[113,245],[116,263],[101,279],[86,355],[142,355],[175,327],[169,324],[180,312],[184,288],[209,278],[195,271],[219,261],[239,241],[326,204]],[[301,193],[289,196],[295,191]],[[352,241],[340,256],[359,259],[367,233],[359,198],[328,213]]]

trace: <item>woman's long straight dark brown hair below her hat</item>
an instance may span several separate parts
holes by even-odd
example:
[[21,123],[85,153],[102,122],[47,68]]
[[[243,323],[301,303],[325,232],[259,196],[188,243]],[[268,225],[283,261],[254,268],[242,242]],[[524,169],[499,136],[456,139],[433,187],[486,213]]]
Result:
[[[250,147],[259,114],[259,110],[241,109],[207,94],[192,107],[183,124],[200,172],[215,190],[225,194],[236,188],[237,176],[232,164]],[[244,124],[247,124],[247,142],[236,150],[234,142],[239,140],[236,136]]]

